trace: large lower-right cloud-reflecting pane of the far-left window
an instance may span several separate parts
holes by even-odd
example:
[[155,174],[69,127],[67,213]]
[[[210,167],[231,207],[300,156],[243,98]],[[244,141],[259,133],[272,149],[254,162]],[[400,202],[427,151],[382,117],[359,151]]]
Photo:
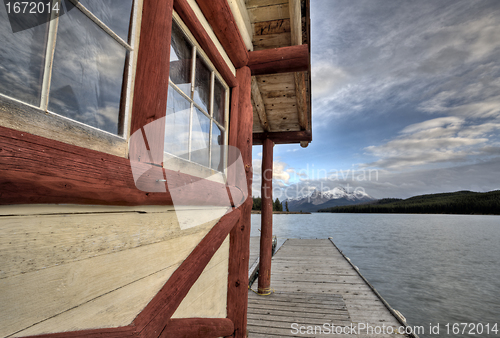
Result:
[[77,9],[59,19],[49,110],[118,134],[127,51]]

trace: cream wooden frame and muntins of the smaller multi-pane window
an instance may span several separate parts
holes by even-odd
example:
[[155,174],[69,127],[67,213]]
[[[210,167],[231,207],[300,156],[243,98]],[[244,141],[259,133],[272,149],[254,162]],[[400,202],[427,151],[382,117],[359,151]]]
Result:
[[[179,95],[181,95],[184,99],[186,99],[189,104],[190,104],[190,117],[189,117],[189,136],[188,136],[188,159],[180,158],[179,156],[176,156],[174,154],[169,153],[166,149],[164,150],[164,153],[168,155],[169,157],[174,157],[178,161],[183,162],[183,163],[188,163],[190,165],[196,165],[200,166],[204,169],[209,169],[214,172],[222,172],[226,173],[227,170],[227,159],[228,159],[228,153],[225,151],[224,154],[224,163],[223,163],[223,170],[219,171],[217,169],[212,168],[212,129],[213,129],[213,124],[215,123],[221,131],[224,133],[224,144],[223,146],[227,146],[229,142],[229,104],[230,104],[230,87],[227,85],[226,81],[224,81],[224,78],[222,75],[219,73],[217,68],[214,66],[214,64],[210,61],[210,58],[207,56],[207,54],[203,51],[199,43],[196,41],[195,37],[193,34],[189,31],[187,26],[184,24],[180,16],[177,14],[177,12],[174,10],[173,15],[172,15],[172,24],[177,24],[177,26],[180,28],[186,39],[191,43],[192,45],[192,50],[191,50],[191,84],[190,84],[190,94],[193,95],[194,93],[194,88],[195,88],[195,78],[196,78],[196,60],[197,58],[201,58],[201,60],[206,64],[206,66],[210,70],[210,102],[209,102],[209,107],[208,107],[208,112],[205,111],[202,107],[200,107],[194,100],[194,98],[191,98],[188,96],[186,93],[182,91],[175,83],[173,83],[170,80],[169,77],[169,86],[172,87],[173,90],[175,90]],[[169,42],[170,43],[170,42]],[[224,98],[224,123],[223,125],[220,124],[214,117],[214,87],[215,87],[215,81],[218,81],[222,87],[224,88],[224,93],[225,93],[225,98]],[[192,120],[193,120],[193,114],[194,114],[194,109],[198,109],[202,114],[209,119],[210,121],[210,131],[209,131],[209,140],[208,140],[208,166],[205,166],[203,164],[200,164],[198,162],[194,162],[191,160],[191,135],[192,135]]]

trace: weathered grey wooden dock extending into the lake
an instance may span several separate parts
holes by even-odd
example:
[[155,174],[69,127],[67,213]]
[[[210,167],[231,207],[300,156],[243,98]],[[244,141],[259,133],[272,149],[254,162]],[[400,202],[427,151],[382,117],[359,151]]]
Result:
[[249,290],[249,338],[405,336],[404,321],[329,239],[288,239],[273,257],[271,288],[257,295],[256,281]]

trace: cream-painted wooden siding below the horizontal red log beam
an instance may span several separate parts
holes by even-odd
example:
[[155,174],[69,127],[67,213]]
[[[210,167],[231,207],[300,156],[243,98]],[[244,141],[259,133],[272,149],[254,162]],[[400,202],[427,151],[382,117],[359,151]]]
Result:
[[[0,336],[130,324],[217,221],[189,227],[172,207],[0,208]],[[178,317],[225,317],[228,246]]]

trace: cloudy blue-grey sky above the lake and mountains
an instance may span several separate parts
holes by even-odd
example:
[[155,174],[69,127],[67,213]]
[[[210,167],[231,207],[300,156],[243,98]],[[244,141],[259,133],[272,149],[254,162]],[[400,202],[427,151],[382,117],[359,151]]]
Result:
[[275,146],[275,186],[500,189],[499,0],[311,0],[311,20],[313,142]]

